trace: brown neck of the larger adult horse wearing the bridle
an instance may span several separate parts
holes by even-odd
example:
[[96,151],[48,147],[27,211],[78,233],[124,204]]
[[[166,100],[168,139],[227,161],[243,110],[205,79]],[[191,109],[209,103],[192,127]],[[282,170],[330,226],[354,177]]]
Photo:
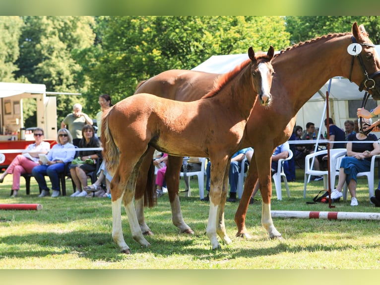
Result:
[[349,36],[320,39],[287,51],[272,61],[273,69],[278,75],[273,84],[279,86],[279,94],[285,95],[285,88],[287,94],[284,100],[289,100],[294,106],[293,116],[328,79],[349,76],[349,67],[342,69],[343,60],[349,64],[348,53],[343,48],[349,45],[348,39]]

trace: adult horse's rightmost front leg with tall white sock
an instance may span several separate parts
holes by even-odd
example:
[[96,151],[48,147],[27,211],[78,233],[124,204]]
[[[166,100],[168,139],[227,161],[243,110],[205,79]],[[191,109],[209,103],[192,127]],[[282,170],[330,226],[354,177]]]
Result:
[[[265,145],[265,144],[263,144]],[[275,228],[272,216],[270,214],[270,198],[272,196],[272,179],[270,176],[270,165],[272,161],[273,149],[266,147],[260,149],[256,153],[256,168],[258,173],[258,183],[260,185],[260,193],[262,197],[261,207],[261,224],[269,233],[269,238],[282,239],[281,234]],[[264,163],[269,161],[269,163]],[[265,165],[266,164],[266,165]]]

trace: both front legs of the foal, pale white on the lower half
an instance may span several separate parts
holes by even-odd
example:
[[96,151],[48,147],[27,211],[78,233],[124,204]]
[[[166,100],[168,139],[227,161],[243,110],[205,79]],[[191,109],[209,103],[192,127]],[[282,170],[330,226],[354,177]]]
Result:
[[[211,241],[212,249],[220,248],[220,244],[218,242],[216,229],[219,227],[219,221],[222,219],[224,222],[224,218],[221,217],[221,214],[224,214],[224,207],[220,209],[222,192],[223,192],[223,182],[224,176],[226,174],[226,167],[228,157],[223,157],[221,159],[217,159],[216,157],[210,157],[211,163],[211,187],[210,187],[210,211],[208,214],[208,223],[206,234]],[[224,194],[223,199],[224,203],[226,201],[227,193]],[[224,204],[223,204],[224,205]],[[225,238],[225,242],[229,241],[227,235],[222,235]]]

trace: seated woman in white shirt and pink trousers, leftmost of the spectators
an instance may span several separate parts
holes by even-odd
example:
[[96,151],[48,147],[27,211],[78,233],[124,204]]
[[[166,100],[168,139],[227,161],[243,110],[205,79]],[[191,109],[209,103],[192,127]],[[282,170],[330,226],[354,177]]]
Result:
[[13,174],[12,197],[17,196],[17,191],[20,189],[20,177],[25,173],[32,173],[34,166],[39,165],[38,154],[46,154],[50,149],[50,143],[44,142],[44,130],[36,128],[34,130],[34,143],[29,144],[22,154],[18,154],[8,168],[0,175],[0,183],[8,174]]

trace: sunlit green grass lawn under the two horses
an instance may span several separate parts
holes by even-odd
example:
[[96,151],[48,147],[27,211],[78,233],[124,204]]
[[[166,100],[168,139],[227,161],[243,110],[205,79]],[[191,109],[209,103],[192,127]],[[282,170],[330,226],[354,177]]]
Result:
[[[23,182],[23,181],[22,181]],[[0,204],[39,203],[42,211],[0,211],[1,269],[379,269],[379,221],[273,218],[284,240],[269,240],[261,226],[260,197],[250,205],[247,228],[252,239],[235,237],[237,203],[226,203],[225,222],[232,244],[211,250],[205,236],[209,205],[199,201],[197,180],[191,179],[192,197],[180,193],[182,213],[195,235],[179,233],[172,224],[168,196],[157,207],[145,210],[155,233],[146,237],[150,248],[141,248],[130,236],[123,210],[123,230],[131,255],[119,252],[111,237],[112,211],[108,198],[38,198],[32,178],[31,195],[21,185],[19,197],[9,198],[11,175],[0,184]],[[291,198],[275,191],[271,210],[375,212],[368,199],[366,179],[359,180],[358,207],[350,202],[307,205],[322,190],[322,181],[308,185],[303,199],[303,173],[290,182]],[[66,183],[69,187],[71,183]],[[181,180],[180,188],[184,183]],[[273,186],[274,187],[274,186]],[[284,186],[283,186],[284,188]],[[72,190],[68,188],[68,194]],[[348,195],[349,196],[349,195]]]

